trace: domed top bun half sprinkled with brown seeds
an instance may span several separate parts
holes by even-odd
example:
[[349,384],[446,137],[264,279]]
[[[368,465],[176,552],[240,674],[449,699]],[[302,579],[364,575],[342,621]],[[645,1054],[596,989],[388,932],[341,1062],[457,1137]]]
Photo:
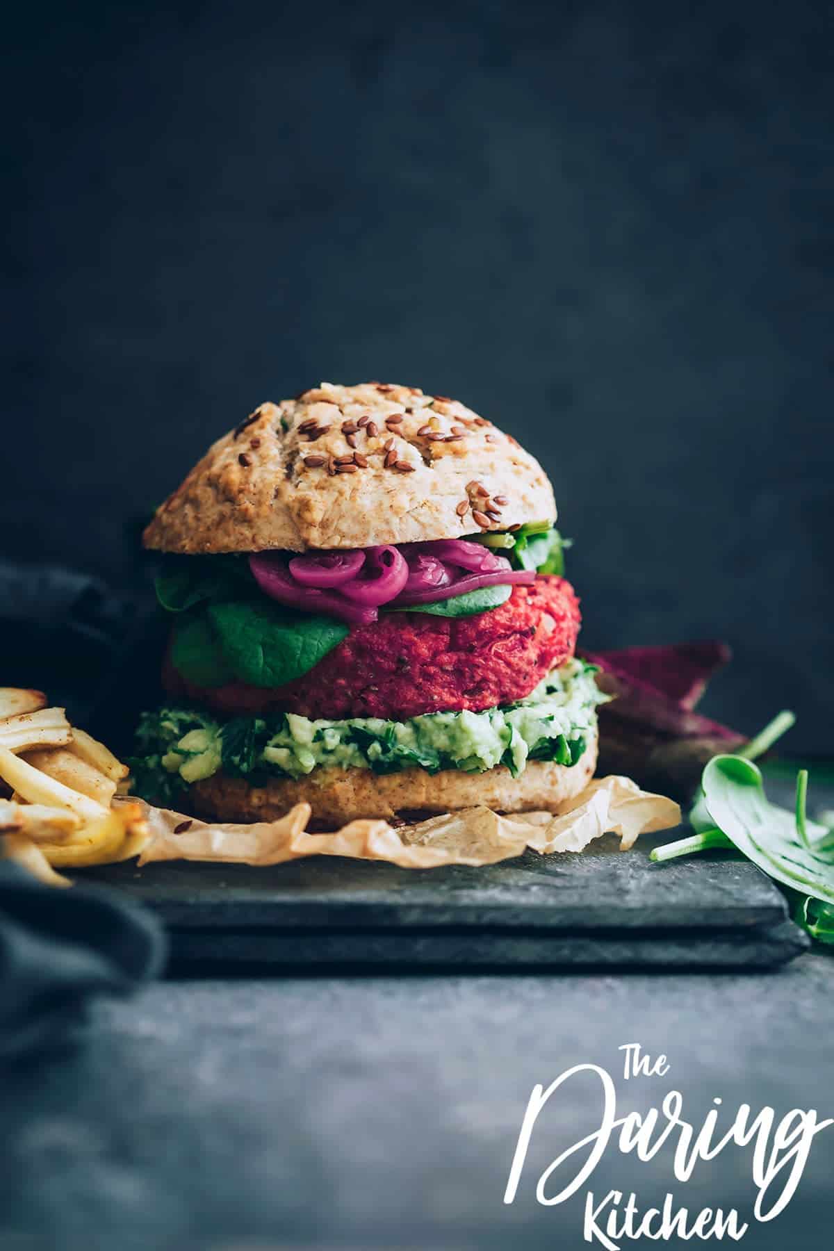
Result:
[[219,439],[144,542],[186,554],[304,552],[460,538],[555,515],[533,457],[456,400],[321,383],[261,404]]

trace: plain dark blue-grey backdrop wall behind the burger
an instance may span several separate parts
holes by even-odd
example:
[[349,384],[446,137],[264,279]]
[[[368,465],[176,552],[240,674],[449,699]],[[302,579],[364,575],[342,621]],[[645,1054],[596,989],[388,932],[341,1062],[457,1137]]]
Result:
[[255,403],[415,383],[541,458],[589,646],[725,637],[708,711],[824,751],[829,14],[21,6],[3,553],[125,580]]

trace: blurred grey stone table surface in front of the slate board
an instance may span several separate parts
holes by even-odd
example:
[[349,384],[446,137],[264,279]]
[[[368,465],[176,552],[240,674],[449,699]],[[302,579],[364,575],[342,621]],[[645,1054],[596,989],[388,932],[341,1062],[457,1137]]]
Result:
[[[675,1088],[696,1127],[715,1097],[726,1123],[743,1102],[831,1116],[833,990],[819,950],[756,975],[161,982],[99,1005],[84,1046],[5,1080],[0,1247],[574,1248],[589,1187],[595,1201],[634,1190],[641,1210],[671,1191],[691,1212],[735,1206],[750,1220],[750,1148],[735,1147],[681,1183],[668,1148],[645,1165],[613,1140],[578,1195],[536,1203],[541,1170],[599,1125],[588,1072],[541,1113],[505,1206],[526,1101],[536,1082],[596,1063],[618,1115]],[[664,1052],[665,1077],[626,1083],[629,1042]],[[833,1163],[828,1128],[785,1211],[743,1245],[824,1245]]]

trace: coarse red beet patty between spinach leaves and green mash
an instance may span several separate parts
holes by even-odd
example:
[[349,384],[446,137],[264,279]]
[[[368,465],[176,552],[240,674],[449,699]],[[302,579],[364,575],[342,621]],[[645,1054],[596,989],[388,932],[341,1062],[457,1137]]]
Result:
[[228,716],[295,712],[340,721],[405,721],[426,712],[480,712],[529,696],[550,669],[574,654],[579,602],[564,578],[539,577],[476,617],[383,614],[358,626],[315,668],[275,689],[241,682],[201,689],[170,663],[171,696]]

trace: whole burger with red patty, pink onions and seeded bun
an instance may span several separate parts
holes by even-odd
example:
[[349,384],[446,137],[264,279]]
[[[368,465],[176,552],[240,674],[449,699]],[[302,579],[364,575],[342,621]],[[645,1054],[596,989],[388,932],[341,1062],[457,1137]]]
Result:
[[144,534],[170,615],[134,789],[318,828],[555,811],[596,763],[553,489],[464,404],[321,383],[219,439]]

